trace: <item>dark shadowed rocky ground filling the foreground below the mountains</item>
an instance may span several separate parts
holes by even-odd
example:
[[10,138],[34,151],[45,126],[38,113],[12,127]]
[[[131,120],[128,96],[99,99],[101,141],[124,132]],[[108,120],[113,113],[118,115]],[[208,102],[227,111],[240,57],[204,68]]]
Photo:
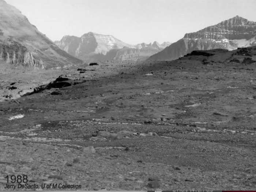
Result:
[[88,66],[82,83],[62,76],[73,83],[1,102],[0,189],[12,173],[85,190],[254,189],[255,53],[196,51],[93,79],[103,66]]

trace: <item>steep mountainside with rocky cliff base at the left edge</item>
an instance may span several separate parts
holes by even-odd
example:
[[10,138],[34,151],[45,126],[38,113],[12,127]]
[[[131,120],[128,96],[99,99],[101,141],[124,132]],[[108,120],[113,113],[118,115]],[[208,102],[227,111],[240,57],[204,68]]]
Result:
[[0,0],[0,59],[32,68],[64,67],[81,60],[40,33],[15,7]]

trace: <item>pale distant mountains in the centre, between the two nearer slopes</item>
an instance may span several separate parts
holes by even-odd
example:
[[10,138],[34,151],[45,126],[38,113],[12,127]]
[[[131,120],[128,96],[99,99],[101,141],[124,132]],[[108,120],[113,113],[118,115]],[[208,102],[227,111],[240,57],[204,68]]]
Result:
[[72,56],[86,62],[91,62],[146,59],[163,50],[171,43],[164,42],[159,44],[155,41],[150,44],[130,45],[112,35],[89,32],[82,35],[82,37],[66,35],[60,41],[55,41],[55,44]]

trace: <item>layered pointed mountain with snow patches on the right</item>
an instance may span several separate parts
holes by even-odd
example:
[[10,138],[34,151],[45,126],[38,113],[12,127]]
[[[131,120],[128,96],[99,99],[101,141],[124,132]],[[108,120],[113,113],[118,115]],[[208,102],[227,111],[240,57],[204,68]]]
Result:
[[206,27],[151,56],[150,60],[174,60],[193,50],[228,49],[256,45],[256,22],[240,16]]

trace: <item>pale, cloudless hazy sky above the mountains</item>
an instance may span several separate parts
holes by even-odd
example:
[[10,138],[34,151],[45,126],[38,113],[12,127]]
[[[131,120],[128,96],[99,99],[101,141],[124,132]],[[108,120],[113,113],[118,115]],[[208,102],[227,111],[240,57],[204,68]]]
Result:
[[93,31],[129,44],[175,42],[236,15],[256,21],[256,0],[5,0],[50,39]]

